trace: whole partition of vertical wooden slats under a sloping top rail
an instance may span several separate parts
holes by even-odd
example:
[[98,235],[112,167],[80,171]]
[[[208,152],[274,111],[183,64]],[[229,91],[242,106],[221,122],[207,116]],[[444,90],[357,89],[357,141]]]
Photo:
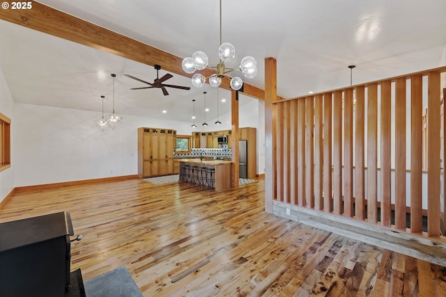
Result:
[[[407,230],[410,207],[410,232],[444,235],[445,209],[440,200],[440,189],[445,188],[440,164],[441,158],[446,159],[446,152],[440,156],[441,145],[446,146],[446,131],[441,128],[446,106],[440,116],[443,72],[446,67],[276,102],[277,118],[282,120],[277,123],[275,143],[280,152],[277,200],[366,221],[376,228],[379,221],[386,229],[400,232]],[[427,86],[423,86],[424,77]],[[423,98],[426,88],[428,95]],[[443,92],[446,96],[446,89]],[[423,114],[425,99],[428,107]],[[423,159],[426,172],[422,172]],[[427,232],[423,232],[426,215]]]

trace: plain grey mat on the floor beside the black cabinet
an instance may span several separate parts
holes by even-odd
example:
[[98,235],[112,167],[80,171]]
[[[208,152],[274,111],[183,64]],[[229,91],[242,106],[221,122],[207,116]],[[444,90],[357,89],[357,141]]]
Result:
[[125,266],[84,282],[86,297],[142,297]]

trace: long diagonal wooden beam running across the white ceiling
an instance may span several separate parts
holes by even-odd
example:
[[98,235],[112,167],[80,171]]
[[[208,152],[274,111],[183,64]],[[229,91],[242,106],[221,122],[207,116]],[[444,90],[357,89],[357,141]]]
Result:
[[[45,6],[36,1],[32,1],[32,8],[29,10],[1,9],[0,19],[65,40],[77,42],[81,45],[106,51],[107,53],[128,58],[139,63],[151,66],[155,64],[161,65],[163,70],[174,72],[183,77],[192,77],[192,74],[185,73],[181,67],[183,58],[102,28],[101,26],[91,24],[83,19],[68,15],[67,13],[63,13],[60,10]],[[205,77],[210,77],[215,72],[206,69],[201,70],[200,73]],[[257,99],[265,99],[265,90],[261,90],[245,82],[243,84],[243,94]],[[220,88],[231,90],[229,80],[222,80]]]

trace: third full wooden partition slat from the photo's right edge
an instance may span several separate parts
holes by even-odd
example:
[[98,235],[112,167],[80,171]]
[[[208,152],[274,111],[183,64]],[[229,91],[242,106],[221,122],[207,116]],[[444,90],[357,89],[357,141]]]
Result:
[[395,228],[406,230],[406,79],[395,81]]

